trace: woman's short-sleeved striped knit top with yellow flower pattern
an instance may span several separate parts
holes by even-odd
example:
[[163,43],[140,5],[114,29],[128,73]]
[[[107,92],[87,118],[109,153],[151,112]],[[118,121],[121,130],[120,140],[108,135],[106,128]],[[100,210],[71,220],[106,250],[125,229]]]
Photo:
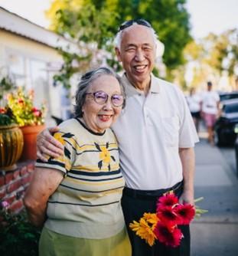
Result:
[[125,181],[116,136],[110,129],[93,133],[72,119],[61,123],[54,137],[64,144],[64,156],[36,162],[38,167],[64,172],[47,202],[45,226],[76,238],[116,235],[125,225],[120,204]]

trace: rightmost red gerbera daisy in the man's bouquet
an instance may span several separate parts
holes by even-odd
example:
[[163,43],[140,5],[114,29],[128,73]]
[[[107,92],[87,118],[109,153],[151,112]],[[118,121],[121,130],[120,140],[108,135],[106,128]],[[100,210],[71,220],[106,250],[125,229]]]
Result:
[[179,223],[180,225],[188,225],[194,218],[195,208],[194,205],[177,205],[174,208],[174,212],[181,216],[181,223]]

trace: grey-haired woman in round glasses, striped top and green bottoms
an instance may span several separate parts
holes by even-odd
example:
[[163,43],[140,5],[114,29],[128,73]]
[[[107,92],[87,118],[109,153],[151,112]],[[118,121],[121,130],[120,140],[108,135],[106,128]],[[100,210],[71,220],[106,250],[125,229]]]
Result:
[[39,254],[129,256],[121,208],[125,181],[109,126],[125,105],[121,78],[107,67],[83,75],[75,118],[54,134],[64,156],[37,160],[24,197],[31,222],[43,227]]

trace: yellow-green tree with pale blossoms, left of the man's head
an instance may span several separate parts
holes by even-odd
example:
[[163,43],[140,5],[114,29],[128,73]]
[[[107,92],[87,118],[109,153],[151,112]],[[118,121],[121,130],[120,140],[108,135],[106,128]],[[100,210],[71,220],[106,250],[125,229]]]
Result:
[[[64,57],[64,64],[54,80],[70,88],[70,77],[103,63],[105,53],[112,51],[109,13],[103,6],[97,8],[86,0],[56,0],[47,17],[51,18],[51,29],[77,44],[79,51],[72,53],[58,48]],[[115,15],[112,15],[115,17]],[[109,50],[108,50],[109,49]],[[107,56],[112,60],[111,54]],[[112,62],[112,61],[111,61]]]

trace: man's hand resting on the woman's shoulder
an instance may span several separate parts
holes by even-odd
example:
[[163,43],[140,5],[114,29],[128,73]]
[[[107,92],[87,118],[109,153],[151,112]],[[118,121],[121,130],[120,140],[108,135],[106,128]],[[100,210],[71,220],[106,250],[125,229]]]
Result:
[[54,126],[51,128],[44,129],[37,135],[37,158],[43,162],[47,162],[47,158],[43,155],[46,154],[52,157],[59,157],[64,153],[64,146],[54,139],[52,134],[60,130],[59,127]]

